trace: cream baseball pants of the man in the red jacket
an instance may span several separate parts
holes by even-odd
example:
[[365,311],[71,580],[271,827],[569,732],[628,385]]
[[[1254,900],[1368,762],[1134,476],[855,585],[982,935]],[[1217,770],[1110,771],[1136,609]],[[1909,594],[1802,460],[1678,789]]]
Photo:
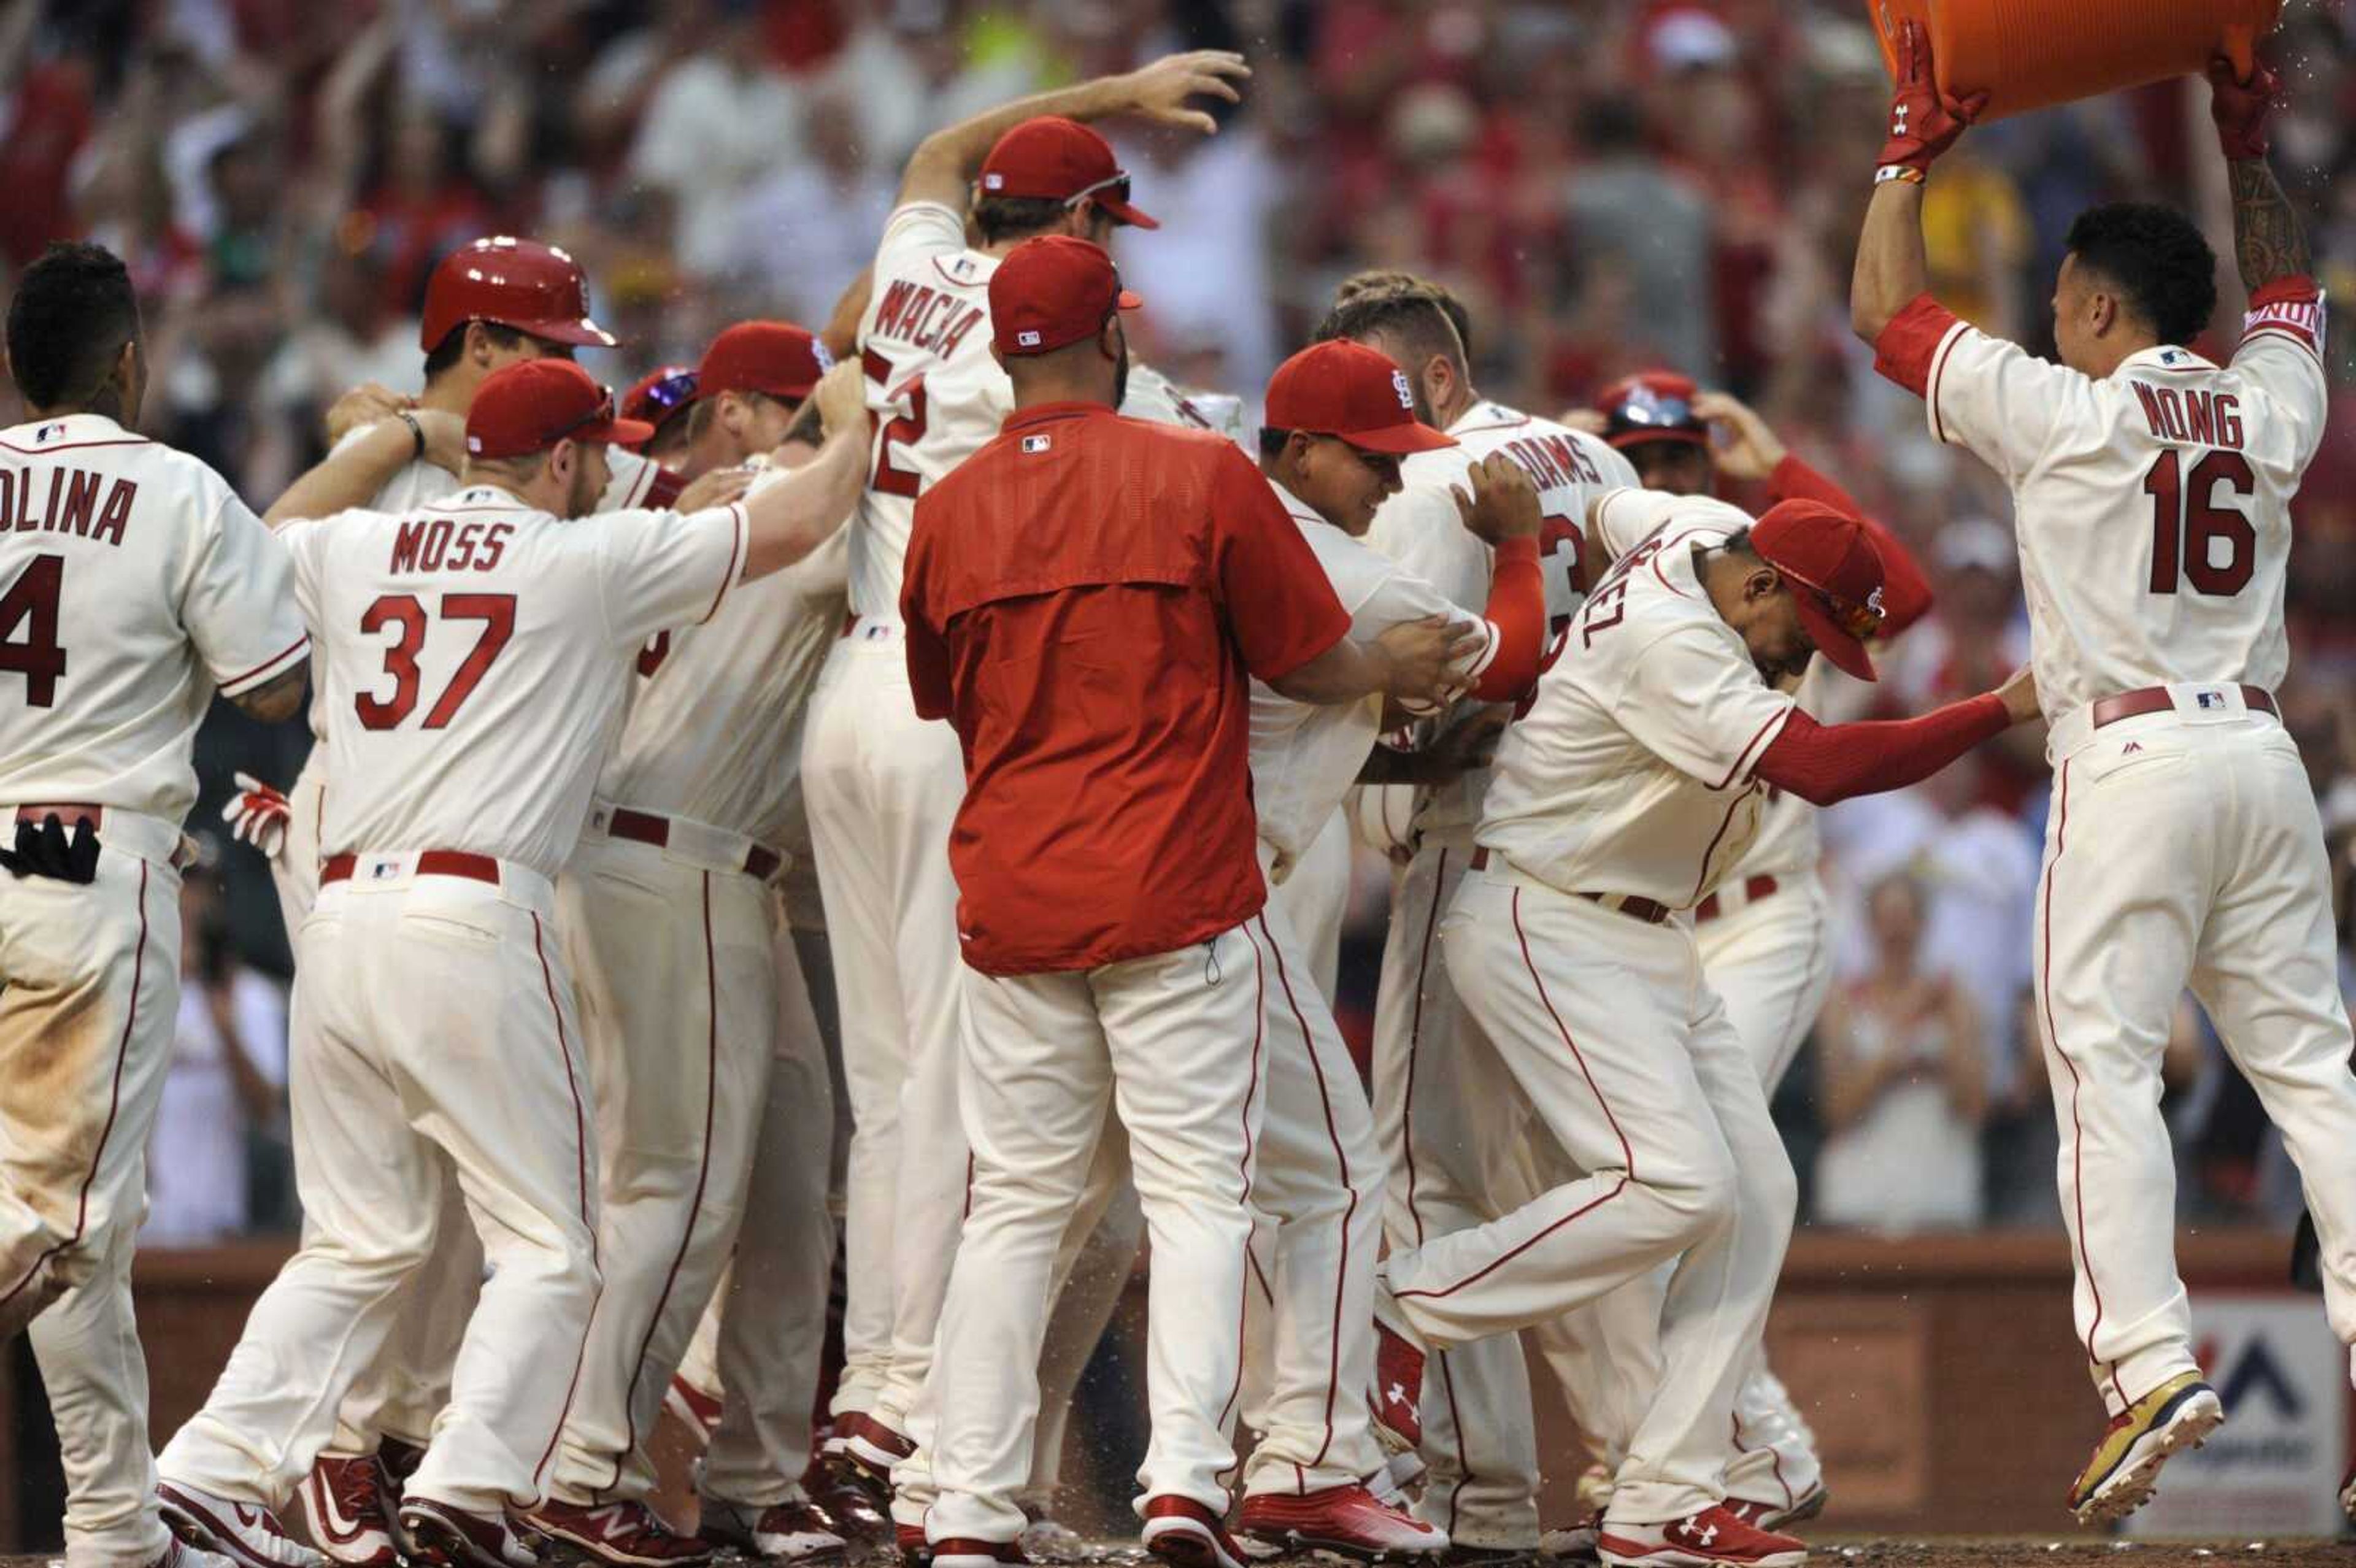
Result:
[[1225,1514],[1272,968],[1237,928],[1072,975],[966,972],[973,1210],[931,1380],[931,1540],[1023,1530],[1048,1293],[1107,1107],[1129,1130],[1154,1257],[1138,1486]]

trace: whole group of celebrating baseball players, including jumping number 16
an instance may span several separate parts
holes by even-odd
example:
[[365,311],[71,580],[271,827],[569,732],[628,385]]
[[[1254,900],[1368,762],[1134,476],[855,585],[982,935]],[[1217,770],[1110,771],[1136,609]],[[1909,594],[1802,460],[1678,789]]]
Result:
[[[737,323],[627,403],[575,363],[617,346],[580,266],[476,240],[426,287],[424,388],[353,388],[266,516],[132,433],[123,264],[31,266],[0,1323],[68,1563],[1055,1561],[1065,1415],[1150,1238],[1157,1559],[1793,1568],[1828,1486],[1762,1354],[1795,1210],[1767,1102],[1831,982],[1814,810],[2036,718],[2109,1410],[2071,1509],[2125,1516],[2224,1420],[2156,1109],[2186,986],[2356,1344],[2351,1036],[2274,699],[2325,412],[2274,82],[2212,71],[2233,356],[2186,346],[2201,233],[2123,205],[2069,235],[2054,365],[1927,290],[1922,186],[1974,106],[1904,42],[1854,325],[2012,487],[2033,626],[2029,671],[1904,720],[1819,716],[1934,584],[1732,398],[1503,407],[1404,273],[1341,287],[1251,440],[1131,363],[1107,245],[1154,219],[1091,122],[1211,132],[1232,54],[935,132],[832,323]],[[229,808],[297,956],[304,1238],[151,1455],[130,1260],[191,742],[214,692],[283,720],[306,685],[302,775]],[[1371,1090],[1331,1008],[1352,836],[1395,866]],[[1524,1337],[1595,1455],[1576,1519],[1541,1519]],[[648,1502],[667,1403],[693,1533]]]

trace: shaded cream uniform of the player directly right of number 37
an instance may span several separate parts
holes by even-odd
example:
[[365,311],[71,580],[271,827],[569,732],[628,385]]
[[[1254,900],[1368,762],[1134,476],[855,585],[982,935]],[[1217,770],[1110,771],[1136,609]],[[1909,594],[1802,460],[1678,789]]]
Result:
[[[770,883],[799,815],[803,704],[841,636],[843,544],[638,652],[629,720],[558,881],[605,1177],[605,1285],[551,1474],[563,1502],[655,1488],[646,1439],[744,1215],[782,984]],[[815,1050],[815,1031],[799,1045]],[[770,1172],[770,1198],[792,1187],[770,1222],[808,1227],[787,1245],[829,1257],[827,1140],[799,1154]],[[792,1290],[766,1302],[770,1321],[822,1323],[827,1269]]]

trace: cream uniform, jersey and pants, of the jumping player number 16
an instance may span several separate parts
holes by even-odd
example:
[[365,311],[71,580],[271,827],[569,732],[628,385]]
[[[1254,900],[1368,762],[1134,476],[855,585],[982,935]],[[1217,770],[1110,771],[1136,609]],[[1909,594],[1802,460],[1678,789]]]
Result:
[[[1932,436],[2012,485],[2054,763],[2036,1008],[2094,1382],[2118,1413],[2196,1368],[2158,1116],[2186,984],[2283,1130],[2332,1330],[2356,1344],[2356,1078],[2330,866],[2297,744],[2271,697],[2245,692],[2288,666],[2290,497],[2323,440],[2323,304],[2259,304],[2229,365],[2158,346],[2099,381],[1944,311],[1911,315],[1882,367],[1927,348],[1906,358],[1927,367]],[[2102,699],[2130,692],[2153,711],[2097,725]]]

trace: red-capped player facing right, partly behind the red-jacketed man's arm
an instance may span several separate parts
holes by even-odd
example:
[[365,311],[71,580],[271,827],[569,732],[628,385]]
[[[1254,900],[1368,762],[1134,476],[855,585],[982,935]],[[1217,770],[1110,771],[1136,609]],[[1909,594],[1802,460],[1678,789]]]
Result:
[[[1374,640],[1421,617],[1463,624],[1480,636],[1458,683],[1482,699],[1522,692],[1546,640],[1541,513],[1529,478],[1494,457],[1470,469],[1470,490],[1458,494],[1461,525],[1496,549],[1487,617],[1472,617],[1359,542],[1399,490],[1399,459],[1451,445],[1416,419],[1404,372],[1362,344],[1317,344],[1277,367],[1265,410],[1260,471],[1350,614],[1350,636]],[[1378,730],[1374,704],[1322,706],[1251,685],[1251,798],[1270,888],[1282,888],[1338,819]],[[1237,1530],[1277,1549],[1369,1559],[1440,1552],[1440,1528],[1378,1502],[1362,1483],[1383,1469],[1366,1413],[1383,1234],[1374,1116],[1331,1008],[1308,984],[1305,946],[1275,897],[1258,916],[1258,935],[1275,970],[1265,989],[1256,1187],[1256,1205],[1277,1222],[1272,1267],[1263,1269],[1272,1288],[1272,1375]],[[1268,1340],[1260,1335],[1253,1351]]]

